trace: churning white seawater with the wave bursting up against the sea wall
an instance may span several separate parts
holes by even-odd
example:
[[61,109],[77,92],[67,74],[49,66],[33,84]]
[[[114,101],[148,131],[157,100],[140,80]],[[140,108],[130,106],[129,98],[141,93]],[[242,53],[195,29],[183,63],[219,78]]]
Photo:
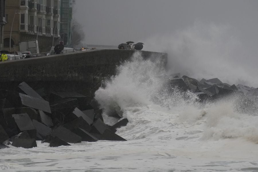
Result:
[[106,124],[128,141],[97,141],[0,150],[0,171],[218,172],[258,171],[258,117],[235,110],[235,98],[201,104],[191,92],[162,88],[166,70],[136,52],[95,98]]

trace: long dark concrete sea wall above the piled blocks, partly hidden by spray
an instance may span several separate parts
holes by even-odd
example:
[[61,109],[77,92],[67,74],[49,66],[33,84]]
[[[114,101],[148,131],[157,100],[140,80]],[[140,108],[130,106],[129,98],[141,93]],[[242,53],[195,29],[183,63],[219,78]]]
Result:
[[[0,89],[15,90],[26,82],[34,90],[76,91],[93,98],[105,78],[116,74],[116,66],[130,60],[133,50],[89,50],[22,60],[0,62]],[[144,59],[167,62],[167,54],[140,51]]]

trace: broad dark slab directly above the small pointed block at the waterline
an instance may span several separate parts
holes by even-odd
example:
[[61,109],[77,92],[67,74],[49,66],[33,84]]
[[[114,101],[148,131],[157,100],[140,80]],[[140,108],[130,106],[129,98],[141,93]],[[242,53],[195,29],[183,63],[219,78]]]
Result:
[[63,126],[58,126],[52,133],[51,136],[56,136],[59,139],[67,142],[67,143],[79,143],[81,142],[81,137],[71,132],[67,128]]

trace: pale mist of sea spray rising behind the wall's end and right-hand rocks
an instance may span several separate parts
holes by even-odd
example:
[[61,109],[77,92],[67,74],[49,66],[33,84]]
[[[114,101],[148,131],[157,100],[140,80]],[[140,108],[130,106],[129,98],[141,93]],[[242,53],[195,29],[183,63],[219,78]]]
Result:
[[[258,87],[255,57],[249,57],[238,31],[229,25],[196,22],[192,27],[154,35],[143,50],[168,53],[171,73],[198,80],[219,78],[222,82]],[[253,68],[250,68],[253,66]]]

